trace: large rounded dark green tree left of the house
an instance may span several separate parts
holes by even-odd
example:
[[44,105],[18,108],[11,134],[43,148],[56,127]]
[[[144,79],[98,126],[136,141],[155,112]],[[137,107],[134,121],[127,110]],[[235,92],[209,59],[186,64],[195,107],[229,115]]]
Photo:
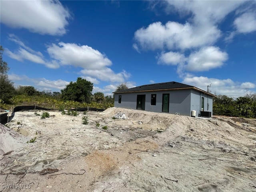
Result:
[[77,102],[90,102],[92,95],[93,83],[78,77],[76,82],[70,82],[66,88],[61,90],[64,100]]

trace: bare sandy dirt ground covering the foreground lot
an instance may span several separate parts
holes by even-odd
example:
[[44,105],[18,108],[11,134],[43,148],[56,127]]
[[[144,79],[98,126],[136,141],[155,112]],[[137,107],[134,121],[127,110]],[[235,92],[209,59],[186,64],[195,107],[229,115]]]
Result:
[[[45,119],[35,112],[44,111],[0,124],[0,191],[256,192],[255,120],[122,108],[48,111]],[[118,112],[127,119],[113,119]]]

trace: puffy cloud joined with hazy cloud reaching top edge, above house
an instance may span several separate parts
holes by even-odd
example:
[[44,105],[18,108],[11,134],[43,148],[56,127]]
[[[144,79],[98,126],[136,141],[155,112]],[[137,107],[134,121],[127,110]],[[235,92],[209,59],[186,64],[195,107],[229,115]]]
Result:
[[230,12],[243,1],[163,1],[167,13],[178,12],[190,16],[185,24],[168,21],[154,22],[134,33],[135,50],[186,50],[211,46],[222,35],[218,29]]

